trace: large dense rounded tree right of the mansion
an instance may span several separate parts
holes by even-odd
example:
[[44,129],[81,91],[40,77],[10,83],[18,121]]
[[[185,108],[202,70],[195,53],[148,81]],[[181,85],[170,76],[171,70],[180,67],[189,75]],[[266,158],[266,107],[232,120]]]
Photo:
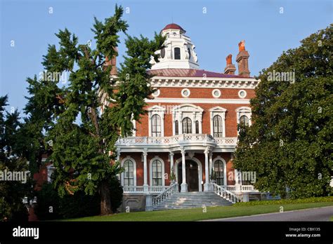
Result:
[[[234,163],[256,172],[260,191],[285,197],[287,187],[292,198],[332,191],[332,30],[311,34],[259,75],[251,100],[254,123],[240,126]],[[295,79],[279,81],[282,72],[295,72]]]

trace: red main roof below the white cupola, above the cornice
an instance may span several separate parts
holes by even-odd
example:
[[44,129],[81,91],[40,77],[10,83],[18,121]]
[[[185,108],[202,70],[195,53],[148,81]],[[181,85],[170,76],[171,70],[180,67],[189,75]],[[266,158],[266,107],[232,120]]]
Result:
[[171,77],[244,78],[243,76],[237,76],[235,74],[209,72],[204,69],[152,69],[149,71],[149,73],[153,76]]

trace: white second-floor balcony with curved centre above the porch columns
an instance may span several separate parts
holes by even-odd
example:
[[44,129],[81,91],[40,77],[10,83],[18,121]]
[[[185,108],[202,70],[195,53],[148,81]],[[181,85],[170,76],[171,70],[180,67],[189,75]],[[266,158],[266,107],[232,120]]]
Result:
[[[208,134],[182,134],[171,137],[124,137],[119,138],[116,146],[120,149],[129,148],[159,148],[172,149],[174,147],[220,147],[235,149],[237,137],[212,137]],[[199,148],[198,148],[199,149]]]

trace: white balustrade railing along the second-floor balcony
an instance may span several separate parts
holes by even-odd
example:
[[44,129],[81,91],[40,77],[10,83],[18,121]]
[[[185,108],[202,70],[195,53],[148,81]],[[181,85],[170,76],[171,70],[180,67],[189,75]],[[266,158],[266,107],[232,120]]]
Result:
[[117,146],[136,146],[136,145],[169,145],[179,144],[179,142],[211,142],[221,145],[236,146],[237,137],[212,137],[208,134],[181,134],[171,137],[124,137],[119,138]]

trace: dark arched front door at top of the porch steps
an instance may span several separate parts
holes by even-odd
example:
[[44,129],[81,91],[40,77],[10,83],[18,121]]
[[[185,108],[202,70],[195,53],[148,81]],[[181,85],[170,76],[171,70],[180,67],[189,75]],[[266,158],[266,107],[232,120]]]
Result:
[[[188,184],[188,191],[199,191],[199,174],[198,165],[195,161],[185,161],[186,183]],[[183,182],[182,165],[178,163],[178,184],[181,187]]]

